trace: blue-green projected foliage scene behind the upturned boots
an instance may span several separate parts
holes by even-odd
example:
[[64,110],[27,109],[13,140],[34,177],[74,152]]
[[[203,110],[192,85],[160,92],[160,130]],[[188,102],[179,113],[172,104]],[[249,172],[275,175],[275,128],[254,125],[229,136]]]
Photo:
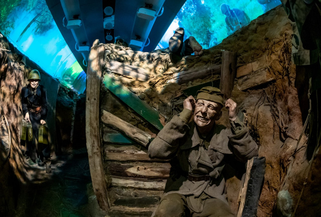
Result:
[[245,17],[248,17],[248,22],[250,22],[281,4],[280,0],[227,0],[225,2],[220,0],[187,0],[173,21],[177,25],[170,26],[171,29],[169,28],[165,33],[157,48],[168,47],[169,37],[178,26],[185,29],[185,38],[194,36],[205,49],[220,43],[234,32],[230,30],[228,34],[229,29],[225,21],[227,15],[220,10],[220,6],[223,3],[230,6],[230,14],[234,13],[233,9],[245,13],[243,17],[238,17],[239,14],[237,12],[233,14],[238,14],[236,16],[238,18],[235,18],[238,22],[247,20],[242,19]]

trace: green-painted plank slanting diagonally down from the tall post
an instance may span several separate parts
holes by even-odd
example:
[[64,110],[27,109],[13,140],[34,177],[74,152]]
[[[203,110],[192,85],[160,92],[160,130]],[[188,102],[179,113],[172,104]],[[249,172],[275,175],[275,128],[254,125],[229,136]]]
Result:
[[110,74],[105,73],[103,84],[106,88],[115,94],[120,100],[142,116],[145,120],[161,130],[163,125],[159,120],[159,112],[139,99],[132,91],[125,87],[121,82],[114,79]]

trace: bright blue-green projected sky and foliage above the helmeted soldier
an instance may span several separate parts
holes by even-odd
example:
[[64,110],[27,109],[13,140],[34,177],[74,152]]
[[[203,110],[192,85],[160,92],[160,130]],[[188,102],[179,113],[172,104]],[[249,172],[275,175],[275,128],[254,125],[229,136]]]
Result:
[[0,32],[48,74],[78,93],[85,90],[86,74],[58,30],[45,0],[1,0]]

